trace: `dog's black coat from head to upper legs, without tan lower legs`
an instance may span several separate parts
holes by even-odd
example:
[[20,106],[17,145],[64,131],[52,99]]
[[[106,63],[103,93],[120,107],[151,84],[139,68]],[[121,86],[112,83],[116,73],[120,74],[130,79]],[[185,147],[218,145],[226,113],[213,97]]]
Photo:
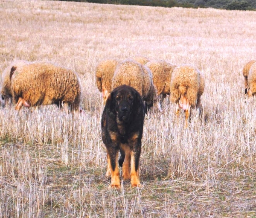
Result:
[[122,85],[111,92],[102,113],[101,129],[112,169],[116,168],[116,152],[119,150],[119,166],[122,167],[125,151],[120,145],[128,144],[134,152],[135,170],[138,170],[144,117],[145,105],[137,90]]

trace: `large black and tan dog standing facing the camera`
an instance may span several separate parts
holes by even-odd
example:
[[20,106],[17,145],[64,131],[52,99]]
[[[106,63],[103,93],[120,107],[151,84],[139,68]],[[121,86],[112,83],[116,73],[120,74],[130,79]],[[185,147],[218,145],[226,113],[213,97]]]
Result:
[[[122,85],[108,96],[102,113],[102,141],[107,148],[108,168],[106,177],[111,177],[111,188],[120,188],[117,166],[119,150],[123,180],[131,179],[132,187],[141,187],[138,169],[141,138],[145,117],[145,105],[134,88]],[[131,173],[130,173],[131,163]]]

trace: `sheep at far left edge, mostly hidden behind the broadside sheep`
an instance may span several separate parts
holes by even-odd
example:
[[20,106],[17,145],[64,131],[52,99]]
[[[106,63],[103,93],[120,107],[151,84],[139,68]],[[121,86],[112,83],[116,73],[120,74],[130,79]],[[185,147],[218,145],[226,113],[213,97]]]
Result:
[[11,73],[12,69],[20,69],[20,67],[24,66],[25,64],[29,64],[28,61],[17,60],[13,61],[6,69],[3,71],[2,74],[2,83],[1,83],[1,104],[5,106],[8,100],[12,104],[12,88],[11,88]]

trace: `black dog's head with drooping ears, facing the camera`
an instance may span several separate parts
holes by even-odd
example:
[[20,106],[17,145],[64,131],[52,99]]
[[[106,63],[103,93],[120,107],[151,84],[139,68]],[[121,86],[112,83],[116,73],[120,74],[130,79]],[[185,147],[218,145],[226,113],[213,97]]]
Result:
[[129,122],[132,117],[145,110],[140,94],[133,87],[122,85],[116,87],[108,96],[106,107],[116,114],[119,122]]

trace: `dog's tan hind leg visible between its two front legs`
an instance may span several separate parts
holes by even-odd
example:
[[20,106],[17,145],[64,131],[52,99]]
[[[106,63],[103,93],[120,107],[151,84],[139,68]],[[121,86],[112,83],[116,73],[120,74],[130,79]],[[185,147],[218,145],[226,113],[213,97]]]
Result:
[[[120,146],[121,158],[119,159],[119,166],[122,166],[122,177],[123,180],[131,179],[130,174],[130,162],[131,162],[131,153],[129,145],[121,144]],[[120,165],[120,160],[122,160],[122,165]]]

